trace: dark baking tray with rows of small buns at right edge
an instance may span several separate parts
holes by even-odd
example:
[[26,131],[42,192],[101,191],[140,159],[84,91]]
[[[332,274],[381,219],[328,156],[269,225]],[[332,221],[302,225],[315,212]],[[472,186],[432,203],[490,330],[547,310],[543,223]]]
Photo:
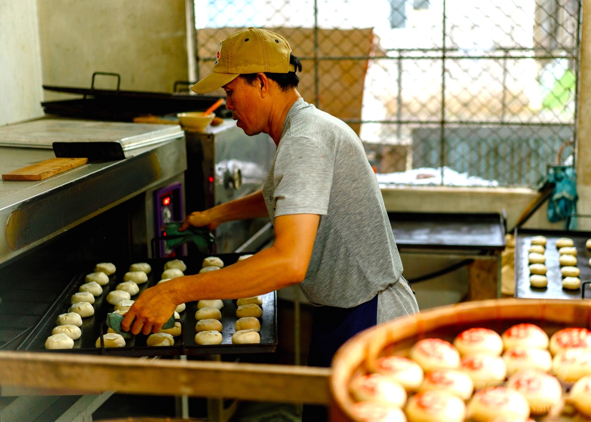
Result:
[[[530,270],[527,259],[527,250],[531,246],[532,236],[545,236],[546,243],[546,267],[548,272],[548,285],[544,288],[531,287]],[[560,264],[558,263],[558,249],[556,249],[556,239],[573,239],[574,246],[577,248],[577,267],[580,270],[579,278],[581,287],[577,290],[566,290],[562,288],[562,275],[560,274]],[[536,229],[515,229],[515,297],[527,297],[535,299],[580,299],[583,297],[591,298],[589,283],[591,281],[591,268],[589,268],[589,258],[591,253],[587,250],[585,242],[591,239],[591,232],[579,231],[561,231],[561,230],[536,230]]]

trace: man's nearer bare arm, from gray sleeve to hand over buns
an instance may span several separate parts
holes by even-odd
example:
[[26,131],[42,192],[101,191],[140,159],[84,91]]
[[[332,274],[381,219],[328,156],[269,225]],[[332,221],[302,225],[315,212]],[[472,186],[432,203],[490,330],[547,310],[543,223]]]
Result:
[[320,216],[275,218],[273,246],[219,271],[173,278],[148,288],[128,311],[122,326],[144,334],[160,329],[178,304],[201,299],[237,299],[301,283],[306,277]]

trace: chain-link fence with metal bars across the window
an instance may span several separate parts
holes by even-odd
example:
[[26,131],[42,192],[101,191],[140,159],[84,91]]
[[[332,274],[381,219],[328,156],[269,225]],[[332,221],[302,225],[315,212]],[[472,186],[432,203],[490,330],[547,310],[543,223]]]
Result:
[[[580,0],[195,0],[200,76],[246,27],[362,139],[382,186],[533,186],[573,160]],[[223,92],[220,92],[223,94]]]

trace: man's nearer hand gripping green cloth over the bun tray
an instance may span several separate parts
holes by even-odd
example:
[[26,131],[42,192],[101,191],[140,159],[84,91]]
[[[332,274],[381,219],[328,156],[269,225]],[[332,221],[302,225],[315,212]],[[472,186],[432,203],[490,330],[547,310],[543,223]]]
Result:
[[[170,282],[167,281],[167,283]],[[177,304],[172,300],[173,293],[170,286],[165,286],[165,284],[160,283],[147,288],[138,297],[121,323],[121,327],[125,331],[129,331],[131,327],[131,332],[134,334],[139,334],[141,331],[148,335],[151,332],[158,332],[167,323],[174,314]],[[131,326],[131,323],[134,325]]]

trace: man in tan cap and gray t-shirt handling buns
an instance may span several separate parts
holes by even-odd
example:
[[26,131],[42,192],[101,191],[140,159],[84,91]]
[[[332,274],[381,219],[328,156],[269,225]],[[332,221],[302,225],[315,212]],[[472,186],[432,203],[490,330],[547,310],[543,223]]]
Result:
[[[301,63],[287,41],[248,28],[220,43],[213,73],[191,87],[223,87],[226,108],[247,135],[277,145],[262,191],[204,212],[189,225],[269,216],[275,242],[219,271],[148,288],[125,316],[133,333],[156,332],[180,303],[233,299],[300,284],[314,303],[309,365],[328,366],[336,349],[376,323],[418,311],[375,175],[355,132],[304,102]],[[304,413],[306,414],[306,413]]]

